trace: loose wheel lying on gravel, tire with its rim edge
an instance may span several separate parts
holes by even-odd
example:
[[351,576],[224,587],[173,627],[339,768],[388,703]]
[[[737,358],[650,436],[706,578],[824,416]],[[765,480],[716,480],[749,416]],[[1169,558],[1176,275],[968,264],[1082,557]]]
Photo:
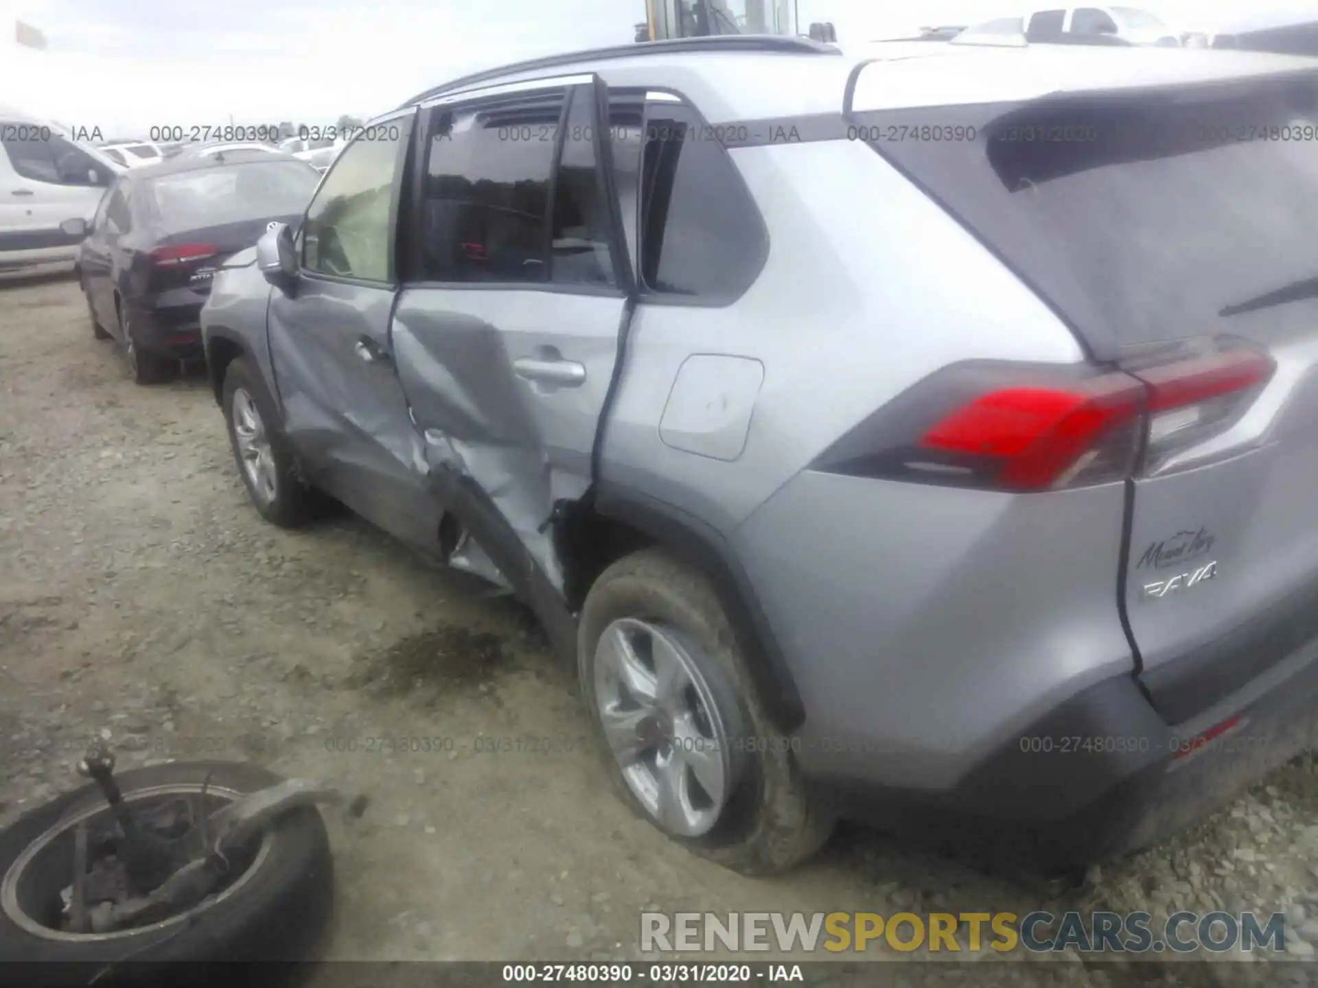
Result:
[[[283,780],[245,763],[190,761],[127,771],[115,781],[125,804],[149,814],[203,802],[214,811]],[[0,983],[185,984],[198,980],[199,964],[260,962],[269,968],[269,962],[303,960],[318,948],[332,916],[333,865],[314,806],[274,817],[231,855],[223,885],[181,914],[109,933],[70,933],[62,917],[78,831],[98,826],[112,830],[113,815],[101,789],[87,785],[0,833]]]

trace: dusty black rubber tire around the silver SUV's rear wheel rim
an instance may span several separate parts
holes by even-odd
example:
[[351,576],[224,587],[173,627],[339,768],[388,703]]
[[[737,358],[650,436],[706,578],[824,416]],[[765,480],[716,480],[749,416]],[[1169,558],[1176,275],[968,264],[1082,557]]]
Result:
[[699,644],[700,659],[710,667],[701,672],[730,688],[724,692],[741,705],[742,742],[750,742],[734,740],[741,779],[714,827],[697,838],[668,837],[742,875],[774,875],[811,858],[832,834],[833,814],[812,798],[789,746],[774,743],[782,735],[759,697],[714,585],[663,549],[642,549],[609,566],[587,595],[577,635],[581,690],[622,800],[658,826],[608,750],[596,705],[596,645],[604,630],[625,617],[662,622]]

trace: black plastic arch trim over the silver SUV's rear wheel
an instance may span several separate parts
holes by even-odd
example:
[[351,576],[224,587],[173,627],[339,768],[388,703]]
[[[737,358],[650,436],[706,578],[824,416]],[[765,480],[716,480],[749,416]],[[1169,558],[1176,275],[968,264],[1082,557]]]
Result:
[[784,732],[800,727],[805,721],[805,706],[796,680],[750,574],[718,531],[673,505],[606,481],[596,486],[594,510],[687,556],[706,572],[722,595],[733,628],[743,647],[751,651],[747,667],[775,726]]

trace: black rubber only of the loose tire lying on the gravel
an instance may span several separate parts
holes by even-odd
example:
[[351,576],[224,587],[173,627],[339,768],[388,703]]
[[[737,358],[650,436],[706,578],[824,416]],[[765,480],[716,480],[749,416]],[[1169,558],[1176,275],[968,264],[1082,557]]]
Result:
[[[120,789],[200,784],[240,793],[279,782],[279,776],[241,761],[179,761],[117,773]],[[0,833],[0,876],[46,831],[91,806],[104,805],[94,785],[62,796]],[[333,912],[333,862],[324,821],[314,808],[281,815],[270,827],[268,856],[244,884],[187,919],[108,939],[40,937],[0,909],[0,970],[22,984],[187,983],[198,968],[177,966],[228,960],[302,960],[322,943]],[[24,967],[7,967],[20,964]],[[33,967],[26,967],[32,964]],[[149,977],[146,977],[149,975]]]

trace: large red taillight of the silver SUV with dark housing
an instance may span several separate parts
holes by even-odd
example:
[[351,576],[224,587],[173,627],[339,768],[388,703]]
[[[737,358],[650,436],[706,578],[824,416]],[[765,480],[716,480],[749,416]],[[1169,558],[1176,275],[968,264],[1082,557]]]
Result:
[[1126,480],[1228,428],[1271,378],[1234,343],[1139,369],[965,364],[941,370],[833,445],[816,468],[1039,491]]

